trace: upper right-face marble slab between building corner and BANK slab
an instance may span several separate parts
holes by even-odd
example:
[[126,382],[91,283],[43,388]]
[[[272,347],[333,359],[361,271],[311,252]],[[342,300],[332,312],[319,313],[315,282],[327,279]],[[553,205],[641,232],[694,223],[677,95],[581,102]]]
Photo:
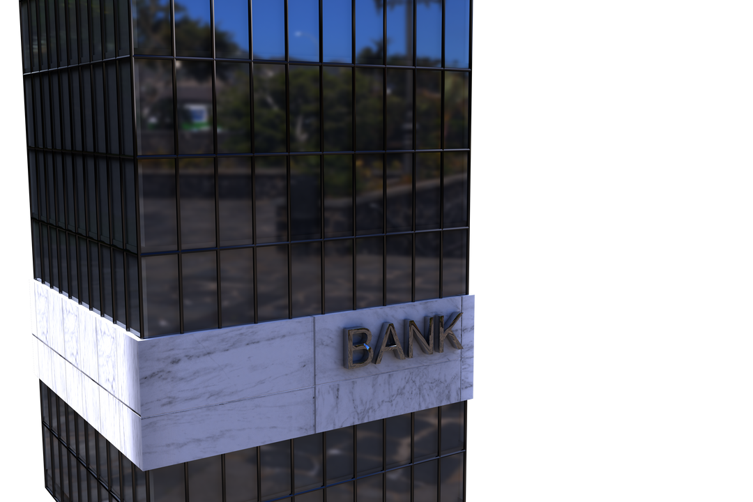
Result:
[[309,317],[140,340],[141,414],[310,387],[312,331]]

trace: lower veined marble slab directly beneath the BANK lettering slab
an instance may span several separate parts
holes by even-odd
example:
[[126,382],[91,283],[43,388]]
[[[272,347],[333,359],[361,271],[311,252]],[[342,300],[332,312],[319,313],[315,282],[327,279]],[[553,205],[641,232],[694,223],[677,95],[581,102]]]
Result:
[[459,359],[316,387],[316,432],[460,400]]

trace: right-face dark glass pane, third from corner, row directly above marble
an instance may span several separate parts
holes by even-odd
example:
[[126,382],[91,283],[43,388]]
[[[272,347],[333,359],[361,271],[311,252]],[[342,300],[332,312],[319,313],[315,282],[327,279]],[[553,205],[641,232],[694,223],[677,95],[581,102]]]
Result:
[[254,322],[254,250],[220,251],[222,326]]

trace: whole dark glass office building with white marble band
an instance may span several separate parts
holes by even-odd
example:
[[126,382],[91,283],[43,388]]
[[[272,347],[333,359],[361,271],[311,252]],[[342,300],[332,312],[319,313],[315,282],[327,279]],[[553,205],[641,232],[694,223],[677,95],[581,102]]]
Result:
[[471,0],[23,0],[57,500],[467,500]]

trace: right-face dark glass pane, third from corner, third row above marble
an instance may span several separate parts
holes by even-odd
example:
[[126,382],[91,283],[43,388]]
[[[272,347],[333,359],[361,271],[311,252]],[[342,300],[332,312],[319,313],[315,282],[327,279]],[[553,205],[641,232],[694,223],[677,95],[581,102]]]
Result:
[[251,153],[251,77],[248,64],[217,62],[217,148]]

